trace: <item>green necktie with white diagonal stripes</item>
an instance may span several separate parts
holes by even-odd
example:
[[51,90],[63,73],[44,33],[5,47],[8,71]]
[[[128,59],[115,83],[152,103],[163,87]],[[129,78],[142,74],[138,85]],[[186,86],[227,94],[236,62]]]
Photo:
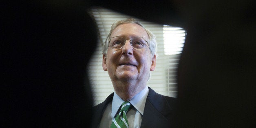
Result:
[[130,102],[124,102],[122,104],[120,112],[113,119],[110,128],[129,128],[126,113],[130,108]]

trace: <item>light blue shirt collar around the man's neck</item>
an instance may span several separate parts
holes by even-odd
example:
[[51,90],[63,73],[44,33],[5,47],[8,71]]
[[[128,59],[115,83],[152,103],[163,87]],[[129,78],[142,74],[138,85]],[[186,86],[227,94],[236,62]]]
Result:
[[[146,104],[146,99],[148,96],[148,87],[144,88],[136,94],[132,99],[129,101],[134,108],[143,115],[145,104]],[[119,110],[120,106],[124,102],[123,99],[121,99],[116,93],[114,93],[113,101],[112,101],[112,113],[111,117],[114,118],[115,115],[117,114],[117,111]]]

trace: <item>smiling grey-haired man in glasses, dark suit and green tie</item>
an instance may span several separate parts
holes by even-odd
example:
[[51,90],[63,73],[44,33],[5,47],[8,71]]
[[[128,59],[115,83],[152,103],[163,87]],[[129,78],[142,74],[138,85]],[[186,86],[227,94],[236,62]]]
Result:
[[94,107],[92,127],[164,128],[174,117],[175,98],[147,86],[156,67],[156,39],[138,21],[113,23],[103,51],[102,67],[115,92]]

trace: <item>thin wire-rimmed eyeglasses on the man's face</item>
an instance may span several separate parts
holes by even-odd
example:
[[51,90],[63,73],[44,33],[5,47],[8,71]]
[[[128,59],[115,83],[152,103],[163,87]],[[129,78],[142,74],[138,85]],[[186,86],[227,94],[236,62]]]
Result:
[[[120,36],[115,36],[113,38],[110,38],[108,41],[108,46],[115,48],[115,49],[121,49],[124,44],[126,43],[126,40]],[[134,49],[144,49],[146,48],[148,42],[143,37],[134,37],[130,40],[130,44]]]

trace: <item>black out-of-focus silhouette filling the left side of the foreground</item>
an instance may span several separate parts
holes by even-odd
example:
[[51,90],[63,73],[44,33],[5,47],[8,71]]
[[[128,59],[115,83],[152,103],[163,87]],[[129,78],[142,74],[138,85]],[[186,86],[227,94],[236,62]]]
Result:
[[2,104],[7,105],[2,128],[88,127],[92,96],[86,64],[97,31],[85,4],[35,0],[1,6]]

